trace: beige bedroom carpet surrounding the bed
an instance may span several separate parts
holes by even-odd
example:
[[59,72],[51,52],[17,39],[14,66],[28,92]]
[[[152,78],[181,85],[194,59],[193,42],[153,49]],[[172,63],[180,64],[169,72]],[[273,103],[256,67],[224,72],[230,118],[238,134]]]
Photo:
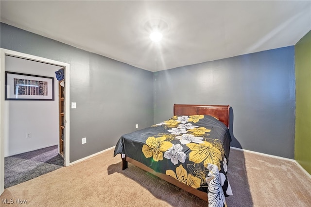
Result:
[[[232,149],[228,173],[229,207],[311,207],[311,179],[292,161]],[[113,150],[5,189],[0,198],[1,207],[207,206],[131,164],[121,171]]]

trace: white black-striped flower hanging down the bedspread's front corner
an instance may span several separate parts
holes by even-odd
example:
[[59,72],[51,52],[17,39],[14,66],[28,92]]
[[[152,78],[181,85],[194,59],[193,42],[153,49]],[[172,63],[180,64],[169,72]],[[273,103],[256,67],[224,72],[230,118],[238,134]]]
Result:
[[208,206],[227,206],[224,191],[222,189],[222,184],[224,185],[225,182],[225,175],[219,173],[218,167],[214,164],[208,164],[207,169],[209,170],[206,178],[206,182],[208,183]]

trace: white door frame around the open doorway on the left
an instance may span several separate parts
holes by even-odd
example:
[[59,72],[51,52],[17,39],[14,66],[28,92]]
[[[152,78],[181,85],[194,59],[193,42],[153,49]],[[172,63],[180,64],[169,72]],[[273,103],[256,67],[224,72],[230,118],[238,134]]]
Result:
[[64,67],[65,70],[65,137],[64,137],[64,166],[69,166],[69,135],[70,135],[70,122],[69,122],[69,86],[70,86],[70,65],[68,63],[59,62],[35,55],[30,55],[22,52],[11,51],[0,48],[0,194],[4,191],[4,71],[5,71],[5,55],[25,58],[29,60],[39,61],[42,63],[53,64]]

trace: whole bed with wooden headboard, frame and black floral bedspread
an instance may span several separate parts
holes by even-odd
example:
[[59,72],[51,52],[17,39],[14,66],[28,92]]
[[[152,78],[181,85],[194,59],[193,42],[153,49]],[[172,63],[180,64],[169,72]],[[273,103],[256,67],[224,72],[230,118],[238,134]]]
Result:
[[226,206],[231,137],[229,105],[174,104],[173,117],[118,140],[122,170],[128,162],[208,202]]

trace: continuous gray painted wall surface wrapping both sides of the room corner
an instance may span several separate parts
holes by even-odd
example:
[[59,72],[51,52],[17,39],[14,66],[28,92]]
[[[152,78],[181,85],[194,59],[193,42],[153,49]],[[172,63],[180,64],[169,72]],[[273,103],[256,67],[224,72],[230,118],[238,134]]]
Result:
[[294,158],[294,46],[155,73],[3,23],[0,46],[70,64],[70,162],[170,118],[174,103],[230,104],[232,146]]

